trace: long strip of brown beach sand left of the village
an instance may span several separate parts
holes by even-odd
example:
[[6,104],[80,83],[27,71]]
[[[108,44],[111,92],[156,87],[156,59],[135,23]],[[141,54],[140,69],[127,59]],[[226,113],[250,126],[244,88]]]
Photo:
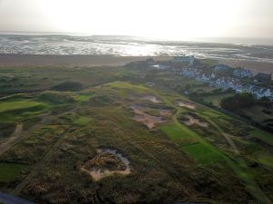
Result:
[[113,55],[31,55],[0,54],[0,67],[8,66],[118,66],[154,58],[170,60],[169,56],[113,56]]

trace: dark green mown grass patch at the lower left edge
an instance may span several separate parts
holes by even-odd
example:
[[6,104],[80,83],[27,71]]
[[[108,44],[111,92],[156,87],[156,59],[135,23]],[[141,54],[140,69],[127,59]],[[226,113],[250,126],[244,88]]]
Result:
[[16,176],[25,168],[26,165],[24,164],[0,162],[0,182],[14,181]]

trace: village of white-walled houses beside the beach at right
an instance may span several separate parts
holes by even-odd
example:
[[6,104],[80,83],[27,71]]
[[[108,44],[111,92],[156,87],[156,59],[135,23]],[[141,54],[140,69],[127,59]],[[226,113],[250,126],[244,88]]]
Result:
[[148,58],[145,62],[134,62],[133,64],[169,71],[223,90],[249,92],[258,99],[266,97],[273,102],[272,73],[254,74],[247,68],[233,68],[226,64],[208,66],[199,63],[193,55],[175,56],[172,61],[160,63]]

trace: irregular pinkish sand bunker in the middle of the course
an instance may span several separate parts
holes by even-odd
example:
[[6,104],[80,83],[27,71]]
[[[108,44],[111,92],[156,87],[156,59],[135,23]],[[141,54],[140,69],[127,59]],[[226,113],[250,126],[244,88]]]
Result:
[[[153,129],[156,127],[157,123],[163,123],[166,120],[161,116],[152,116],[147,114],[146,108],[140,105],[131,105],[130,108],[133,110],[133,112],[136,113],[136,116],[134,117],[135,121],[141,121],[145,125],[147,125],[148,129]],[[161,113],[160,113],[161,114]]]

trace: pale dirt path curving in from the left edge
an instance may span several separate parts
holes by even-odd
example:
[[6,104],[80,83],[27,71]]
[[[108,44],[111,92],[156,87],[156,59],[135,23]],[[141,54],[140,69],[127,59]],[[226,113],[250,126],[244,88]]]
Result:
[[20,138],[23,134],[23,123],[17,123],[15,127],[15,131],[11,134],[11,136],[4,143],[0,144],[0,155],[5,153],[5,151],[9,150],[15,142]]

